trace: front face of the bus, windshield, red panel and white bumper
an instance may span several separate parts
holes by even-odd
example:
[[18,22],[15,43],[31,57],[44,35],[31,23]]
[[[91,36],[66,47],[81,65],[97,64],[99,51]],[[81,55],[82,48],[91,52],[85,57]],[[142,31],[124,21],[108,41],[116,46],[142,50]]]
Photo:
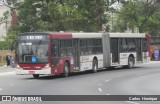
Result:
[[50,75],[47,34],[20,34],[16,42],[17,75]]

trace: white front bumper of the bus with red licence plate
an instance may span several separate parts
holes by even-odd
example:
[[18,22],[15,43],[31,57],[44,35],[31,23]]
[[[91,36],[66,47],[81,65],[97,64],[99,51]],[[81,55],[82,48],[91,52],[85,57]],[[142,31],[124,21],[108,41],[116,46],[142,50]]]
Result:
[[30,74],[40,74],[40,75],[51,75],[51,69],[41,69],[41,70],[24,70],[16,69],[17,75],[30,75]]

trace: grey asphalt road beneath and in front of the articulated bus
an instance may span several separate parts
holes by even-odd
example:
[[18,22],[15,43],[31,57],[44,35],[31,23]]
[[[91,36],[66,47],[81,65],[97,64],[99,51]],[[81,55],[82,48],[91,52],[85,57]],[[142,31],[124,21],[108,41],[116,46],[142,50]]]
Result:
[[[14,69],[0,69],[0,95],[160,95],[160,63],[134,69],[74,73],[70,77],[15,75]],[[0,104],[3,102],[0,102]],[[10,102],[9,102],[10,103]],[[35,102],[11,102],[35,104]],[[47,104],[159,104],[159,101],[54,101]]]

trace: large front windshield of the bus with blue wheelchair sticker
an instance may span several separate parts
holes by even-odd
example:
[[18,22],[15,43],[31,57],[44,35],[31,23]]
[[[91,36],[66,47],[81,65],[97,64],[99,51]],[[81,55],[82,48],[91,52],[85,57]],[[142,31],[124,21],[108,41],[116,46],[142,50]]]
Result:
[[21,40],[17,43],[17,61],[20,63],[48,62],[48,41]]

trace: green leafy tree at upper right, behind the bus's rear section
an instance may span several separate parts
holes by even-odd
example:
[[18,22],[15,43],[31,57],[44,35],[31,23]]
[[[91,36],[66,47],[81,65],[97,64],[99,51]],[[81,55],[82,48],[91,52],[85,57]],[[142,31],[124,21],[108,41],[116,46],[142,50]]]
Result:
[[129,28],[133,32],[135,28],[138,28],[139,32],[152,33],[148,29],[155,28],[151,26],[151,23],[153,23],[153,20],[158,19],[153,19],[153,17],[159,10],[159,3],[158,0],[134,0],[134,2],[130,0],[123,2],[123,6],[118,12],[117,24],[121,25],[122,30]]

